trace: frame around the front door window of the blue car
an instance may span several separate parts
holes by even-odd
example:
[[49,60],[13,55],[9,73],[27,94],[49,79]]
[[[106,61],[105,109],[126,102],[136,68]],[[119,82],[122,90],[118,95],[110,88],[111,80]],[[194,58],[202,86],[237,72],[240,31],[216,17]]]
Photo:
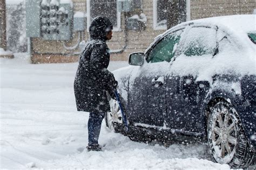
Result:
[[[168,32],[168,33],[166,33],[165,35],[163,35],[163,37],[159,38],[159,39],[157,40],[157,42],[155,42],[155,43],[150,47],[150,49],[146,51],[146,53],[145,53],[146,62],[147,62],[147,63],[150,63],[150,61],[149,61],[149,62],[147,61],[147,59],[149,58],[149,53],[154,49],[155,46],[157,46],[158,43],[161,42],[161,40],[163,40],[165,37],[168,37],[169,35],[171,35],[171,34],[174,33],[174,32],[182,31],[181,34],[180,34],[179,43],[178,43],[177,48],[176,48],[176,51],[178,51],[178,49],[180,49],[180,46],[179,46],[179,45],[180,45],[180,42],[181,42],[181,39],[182,39],[181,35],[185,32],[185,28],[186,28],[185,26],[182,26],[181,28],[178,28],[178,29],[176,29],[176,30],[173,30],[173,31],[171,31],[171,32]],[[175,59],[176,56],[177,56],[177,52],[174,53],[174,56],[173,56],[172,58]],[[172,60],[171,60],[171,61],[172,61]]]

